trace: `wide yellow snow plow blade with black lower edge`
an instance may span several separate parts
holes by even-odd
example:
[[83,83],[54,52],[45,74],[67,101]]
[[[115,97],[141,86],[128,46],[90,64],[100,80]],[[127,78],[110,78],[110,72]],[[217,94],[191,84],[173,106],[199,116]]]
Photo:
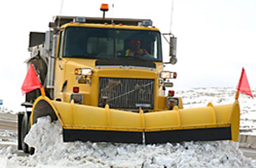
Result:
[[63,128],[63,141],[165,143],[183,141],[238,141],[240,107],[228,105],[143,113],[57,102],[40,96],[30,124],[50,115]]

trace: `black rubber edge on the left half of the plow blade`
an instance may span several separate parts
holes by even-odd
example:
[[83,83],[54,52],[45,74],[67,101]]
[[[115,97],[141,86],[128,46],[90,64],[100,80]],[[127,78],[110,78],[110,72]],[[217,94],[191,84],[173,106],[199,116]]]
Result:
[[63,141],[142,143],[142,132],[63,129]]

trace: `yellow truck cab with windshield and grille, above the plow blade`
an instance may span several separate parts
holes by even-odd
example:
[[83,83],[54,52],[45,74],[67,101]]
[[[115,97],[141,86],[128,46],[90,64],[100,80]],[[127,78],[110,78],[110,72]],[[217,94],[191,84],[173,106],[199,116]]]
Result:
[[151,20],[56,16],[49,27],[45,44],[29,50],[46,60],[52,100],[148,112],[181,104],[163,94],[176,73],[163,71],[161,33]]

